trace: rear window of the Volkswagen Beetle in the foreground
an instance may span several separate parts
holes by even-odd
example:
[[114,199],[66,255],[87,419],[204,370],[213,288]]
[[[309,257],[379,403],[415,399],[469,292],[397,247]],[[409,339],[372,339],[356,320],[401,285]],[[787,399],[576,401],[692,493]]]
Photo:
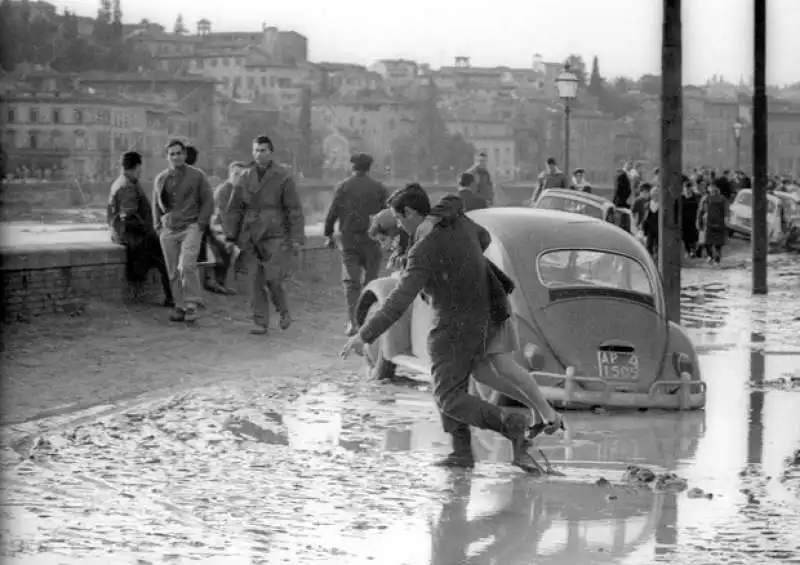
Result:
[[539,256],[537,268],[542,284],[548,288],[598,287],[654,294],[641,263],[610,251],[550,251]]

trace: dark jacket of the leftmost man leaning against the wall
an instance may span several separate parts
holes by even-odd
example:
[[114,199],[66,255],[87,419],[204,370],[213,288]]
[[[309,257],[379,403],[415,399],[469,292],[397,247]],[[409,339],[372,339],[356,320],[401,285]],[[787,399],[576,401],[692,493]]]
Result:
[[138,245],[153,232],[150,203],[139,181],[124,173],[111,185],[106,222],[115,243]]

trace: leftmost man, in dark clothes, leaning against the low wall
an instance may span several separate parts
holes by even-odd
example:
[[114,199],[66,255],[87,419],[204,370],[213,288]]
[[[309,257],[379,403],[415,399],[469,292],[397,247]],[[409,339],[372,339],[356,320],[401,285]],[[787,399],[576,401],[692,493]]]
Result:
[[172,289],[158,235],[153,228],[153,214],[139,184],[141,172],[142,156],[135,151],[125,153],[122,173],[111,185],[108,196],[108,227],[111,228],[112,241],[124,245],[127,250],[127,276],[137,294],[150,269],[155,267],[164,288],[164,306],[172,307]]

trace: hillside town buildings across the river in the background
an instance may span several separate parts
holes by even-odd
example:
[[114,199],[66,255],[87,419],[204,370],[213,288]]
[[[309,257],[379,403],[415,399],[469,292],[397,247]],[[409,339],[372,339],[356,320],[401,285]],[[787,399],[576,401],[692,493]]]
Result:
[[[30,4],[42,17],[57,17],[47,2]],[[79,18],[79,33],[91,36],[92,22]],[[238,155],[237,136],[256,123],[294,130],[289,137],[297,153],[307,103],[314,150],[327,171],[346,171],[355,151],[372,154],[376,166],[393,168],[393,148],[414,135],[415,109],[430,84],[447,131],[485,151],[498,180],[535,178],[550,156],[564,161],[564,107],[556,89],[563,64],[540,54],[525,68],[477,67],[468,56],[439,69],[406,59],[368,66],[312,62],[308,38],[295,31],[262,24],[253,31],[220,32],[208,19],[193,27],[191,33],[172,33],[148,21],[125,24],[126,43],[139,64],[135,72],[60,76],[42,69],[3,77],[3,147],[10,161],[60,162],[75,174],[101,174],[113,168],[120,147],[155,156],[166,136],[180,135],[201,148],[201,167],[224,171]],[[660,101],[636,84],[625,96],[635,110],[611,115],[585,86],[579,90],[571,113],[570,163],[586,169],[591,183],[610,184],[623,160],[657,165]],[[687,168],[725,169],[737,162],[746,168],[746,85],[715,79],[687,87],[684,112]],[[738,142],[737,121],[743,124]],[[798,102],[772,100],[769,126],[772,172],[800,174]]]

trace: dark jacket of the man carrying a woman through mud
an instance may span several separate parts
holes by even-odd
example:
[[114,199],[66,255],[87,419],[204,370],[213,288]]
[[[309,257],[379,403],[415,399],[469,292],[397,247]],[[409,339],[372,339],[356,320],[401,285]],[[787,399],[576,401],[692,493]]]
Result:
[[360,335],[372,343],[399,320],[420,291],[432,309],[428,352],[438,360],[463,355],[478,359],[485,351],[490,324],[490,289],[482,241],[488,232],[458,217],[435,225],[414,242],[397,286]]

